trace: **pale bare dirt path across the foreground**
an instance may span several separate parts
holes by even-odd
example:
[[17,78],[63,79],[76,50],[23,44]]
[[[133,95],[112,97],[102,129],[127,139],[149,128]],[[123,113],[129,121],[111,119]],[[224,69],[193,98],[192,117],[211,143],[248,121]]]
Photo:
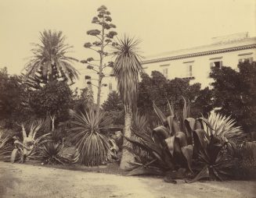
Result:
[[0,161],[0,197],[256,197],[256,182],[169,184],[162,179]]

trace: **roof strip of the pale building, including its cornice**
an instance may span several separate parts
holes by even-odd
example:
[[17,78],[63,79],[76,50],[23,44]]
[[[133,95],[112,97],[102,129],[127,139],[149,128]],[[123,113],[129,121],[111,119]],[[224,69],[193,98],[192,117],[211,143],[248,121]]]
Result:
[[249,37],[247,32],[229,34],[211,38],[211,44],[177,51],[167,51],[158,55],[151,55],[142,61],[142,64],[163,62],[180,58],[196,57],[200,55],[218,54],[226,51],[236,51],[246,48],[256,48],[256,37]]

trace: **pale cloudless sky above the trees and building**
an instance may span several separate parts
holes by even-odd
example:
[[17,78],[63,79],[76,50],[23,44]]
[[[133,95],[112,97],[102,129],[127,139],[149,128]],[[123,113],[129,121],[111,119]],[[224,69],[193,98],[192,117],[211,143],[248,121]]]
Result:
[[256,35],[255,0],[0,0],[0,68],[20,74],[43,30],[63,31],[74,58],[92,56],[83,44],[93,41],[86,31],[95,28],[91,21],[100,5],[111,12],[119,35],[142,39],[144,56],[208,44],[226,34]]

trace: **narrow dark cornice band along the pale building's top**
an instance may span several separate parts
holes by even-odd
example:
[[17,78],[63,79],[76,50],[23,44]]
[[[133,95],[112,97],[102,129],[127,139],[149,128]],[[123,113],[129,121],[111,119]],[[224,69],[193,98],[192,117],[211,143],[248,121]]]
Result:
[[211,50],[211,51],[201,51],[201,52],[185,54],[185,55],[175,55],[175,56],[170,56],[166,58],[155,58],[155,59],[142,61],[141,64],[146,65],[154,62],[166,62],[166,61],[172,61],[172,60],[177,60],[182,58],[192,58],[192,57],[204,56],[204,55],[215,55],[220,53],[226,53],[229,51],[240,51],[240,50],[251,49],[251,48],[256,48],[256,44],[247,44],[247,45],[237,46],[233,48],[223,48],[223,49]]

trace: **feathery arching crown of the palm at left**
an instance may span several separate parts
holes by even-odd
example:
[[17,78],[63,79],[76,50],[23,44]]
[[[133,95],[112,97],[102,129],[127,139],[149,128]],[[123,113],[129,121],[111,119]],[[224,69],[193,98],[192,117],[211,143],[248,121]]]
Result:
[[73,47],[64,44],[65,37],[61,31],[44,30],[40,35],[41,44],[34,44],[31,50],[33,56],[25,65],[25,80],[28,77],[38,79],[40,76],[41,83],[53,80],[69,80],[73,83],[78,79],[78,71],[71,64],[78,60],[67,56],[67,50]]

